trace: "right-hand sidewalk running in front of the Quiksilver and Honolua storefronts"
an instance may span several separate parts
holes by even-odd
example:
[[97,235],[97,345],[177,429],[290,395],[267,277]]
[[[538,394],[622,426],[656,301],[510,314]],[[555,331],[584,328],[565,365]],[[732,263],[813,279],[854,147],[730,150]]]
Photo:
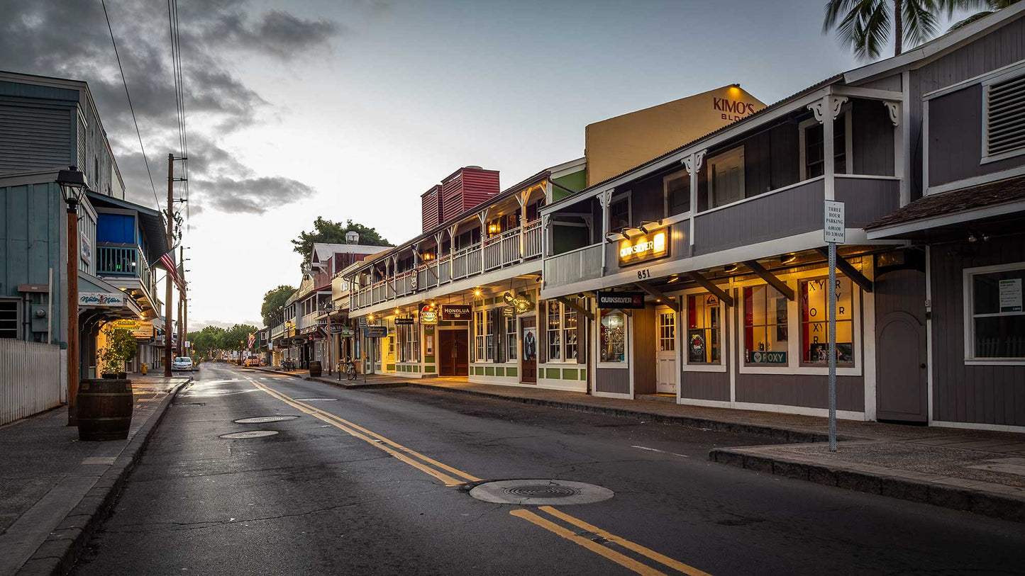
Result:
[[[303,378],[303,376],[299,376]],[[309,376],[305,376],[310,380]],[[331,379],[313,379],[363,388]],[[600,412],[691,428],[762,435],[787,444],[721,448],[708,458],[830,486],[1025,522],[1025,435],[838,420],[830,453],[820,416],[600,398],[579,392],[470,384],[464,379],[368,375],[366,387],[406,386]]]

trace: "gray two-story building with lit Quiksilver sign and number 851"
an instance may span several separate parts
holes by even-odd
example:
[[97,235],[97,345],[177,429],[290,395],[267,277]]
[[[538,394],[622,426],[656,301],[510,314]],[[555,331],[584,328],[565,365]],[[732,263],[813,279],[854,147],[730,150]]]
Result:
[[1023,9],[826,79],[544,207],[557,240],[541,298],[596,297],[593,393],[824,415],[823,205],[840,201],[840,417],[1025,424],[1025,245],[1006,235],[1021,230],[1010,215],[1022,196],[1001,180],[1022,173]]

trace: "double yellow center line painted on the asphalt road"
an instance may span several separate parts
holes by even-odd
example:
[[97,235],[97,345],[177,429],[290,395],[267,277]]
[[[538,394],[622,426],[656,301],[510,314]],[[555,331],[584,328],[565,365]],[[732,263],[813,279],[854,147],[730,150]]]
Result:
[[[441,480],[446,486],[458,486],[466,482],[480,482],[482,480],[471,474],[465,473],[461,470],[442,463],[429,456],[425,456],[420,452],[417,452],[416,450],[407,448],[406,446],[403,446],[402,444],[399,444],[394,440],[385,438],[380,434],[373,432],[372,430],[367,430],[366,428],[363,428],[362,426],[356,423],[350,422],[341,416],[332,414],[331,412],[328,412],[326,410],[322,410],[315,406],[311,406],[305,402],[300,402],[299,400],[296,400],[290,396],[286,396],[276,390],[271,389],[268,386],[264,386],[256,382],[251,378],[247,378],[246,380],[251,382],[252,385],[255,386],[257,389],[266,392],[272,397],[281,400],[285,404],[288,404],[289,406],[292,406],[293,408],[303,413],[310,414],[316,418],[326,422],[327,424],[339,430],[344,431],[346,434],[359,438],[360,440],[367,442],[368,444],[379,450],[387,452],[392,456],[406,462],[407,464],[419,470],[420,472],[423,472],[425,474],[428,474],[437,478],[438,480]],[[551,518],[555,518],[559,521],[562,521],[565,524],[568,524],[580,530],[574,531],[572,528],[567,528],[561,524],[554,522],[552,520],[549,520],[548,518],[537,515],[526,508],[511,509],[509,511],[509,515],[526,520],[527,522],[530,522],[535,526],[543,528],[551,532],[552,534],[556,534],[562,538],[566,538],[567,540],[577,545],[580,545],[628,570],[631,570],[638,574],[642,574],[643,576],[659,576],[659,575],[665,576],[665,573],[647,564],[644,564],[643,562],[640,562],[633,558],[630,558],[625,553],[619,552],[609,546],[606,546],[605,544],[596,541],[596,539],[604,539],[608,542],[613,542],[623,548],[626,548],[627,550],[630,550],[648,560],[661,564],[662,566],[674,570],[676,572],[682,572],[690,576],[711,576],[710,574],[702,572],[697,568],[694,568],[680,561],[673,560],[667,556],[656,552],[651,548],[647,548],[645,546],[642,546],[641,544],[631,542],[630,540],[627,540],[620,536],[616,536],[611,532],[608,532],[597,526],[588,524],[580,520],[579,518],[570,516],[551,506],[539,506],[538,509],[550,516]],[[588,532],[594,535],[596,539],[582,536],[580,534],[581,531]]]

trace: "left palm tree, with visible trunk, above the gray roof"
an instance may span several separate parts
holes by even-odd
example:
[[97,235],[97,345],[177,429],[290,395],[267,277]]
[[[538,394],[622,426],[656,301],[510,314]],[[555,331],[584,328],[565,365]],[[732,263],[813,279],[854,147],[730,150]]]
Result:
[[836,29],[840,44],[868,60],[879,57],[892,31],[896,56],[904,42],[918,45],[932,38],[938,28],[936,14],[961,1],[974,0],[828,0],[822,32]]

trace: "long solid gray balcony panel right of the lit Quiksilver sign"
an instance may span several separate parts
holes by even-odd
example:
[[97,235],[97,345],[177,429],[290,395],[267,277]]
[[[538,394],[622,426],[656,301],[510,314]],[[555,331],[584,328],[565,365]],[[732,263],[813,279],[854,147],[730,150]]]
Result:
[[822,180],[697,215],[695,254],[782,238],[822,227]]

